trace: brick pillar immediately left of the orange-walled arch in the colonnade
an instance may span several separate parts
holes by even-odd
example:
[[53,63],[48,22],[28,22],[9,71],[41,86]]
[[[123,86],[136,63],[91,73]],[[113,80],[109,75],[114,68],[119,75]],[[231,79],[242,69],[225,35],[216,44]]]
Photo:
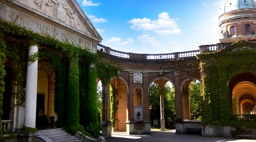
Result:
[[110,85],[102,83],[102,136],[111,137]]

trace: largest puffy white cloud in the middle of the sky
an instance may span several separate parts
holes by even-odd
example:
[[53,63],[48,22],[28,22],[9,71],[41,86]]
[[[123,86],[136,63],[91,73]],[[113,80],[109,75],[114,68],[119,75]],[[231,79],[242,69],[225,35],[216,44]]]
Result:
[[170,16],[167,12],[160,13],[158,15],[159,19],[150,20],[147,18],[136,19],[133,18],[127,23],[132,24],[132,30],[144,30],[144,31],[153,31],[157,34],[179,34],[181,30],[178,28],[176,21],[179,19],[170,19]]

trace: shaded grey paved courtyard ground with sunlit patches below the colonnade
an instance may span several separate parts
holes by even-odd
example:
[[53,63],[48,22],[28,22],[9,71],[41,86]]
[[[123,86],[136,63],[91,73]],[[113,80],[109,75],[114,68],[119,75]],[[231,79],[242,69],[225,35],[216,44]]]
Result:
[[234,138],[206,138],[200,135],[175,134],[171,131],[155,131],[151,134],[127,135],[112,133],[112,138],[105,138],[106,142],[256,142],[256,140]]

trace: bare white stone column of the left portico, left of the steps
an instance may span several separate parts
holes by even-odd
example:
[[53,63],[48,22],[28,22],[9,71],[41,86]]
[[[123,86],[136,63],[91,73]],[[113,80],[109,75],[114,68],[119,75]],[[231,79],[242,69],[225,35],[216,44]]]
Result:
[[[36,45],[28,47],[28,59],[38,51]],[[25,118],[24,126],[36,127],[36,94],[37,94],[37,71],[38,60],[28,62],[26,98],[25,98]]]

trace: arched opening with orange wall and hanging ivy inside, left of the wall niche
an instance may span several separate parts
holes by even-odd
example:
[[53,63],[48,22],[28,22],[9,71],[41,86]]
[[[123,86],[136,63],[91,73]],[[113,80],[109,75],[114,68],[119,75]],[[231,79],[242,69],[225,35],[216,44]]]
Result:
[[113,131],[126,131],[127,96],[126,85],[122,79],[114,78],[110,86],[110,121]]

